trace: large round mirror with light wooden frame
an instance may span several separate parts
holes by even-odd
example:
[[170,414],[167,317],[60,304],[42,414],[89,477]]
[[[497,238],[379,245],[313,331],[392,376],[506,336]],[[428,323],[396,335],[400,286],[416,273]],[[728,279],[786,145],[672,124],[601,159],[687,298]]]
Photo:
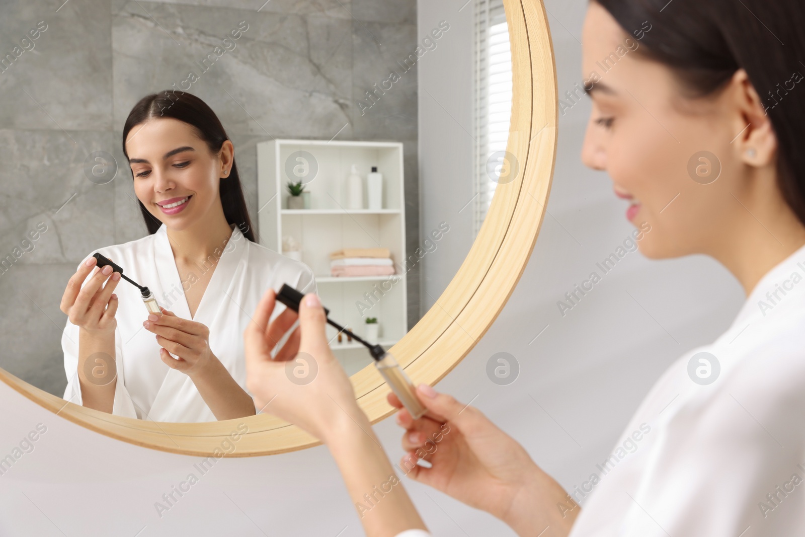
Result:
[[[307,448],[316,439],[268,414],[215,420],[192,375],[164,361],[187,349],[142,325],[150,296],[246,390],[238,338],[262,291],[287,283],[349,328],[328,327],[333,353],[369,419],[390,415],[389,387],[352,333],[390,349],[414,382],[438,382],[535,244],[557,124],[542,2],[148,6],[114,3],[101,42],[73,31],[92,15],[72,4],[11,17],[24,35],[0,61],[16,103],[2,117],[0,378],[150,448],[210,455],[234,430],[227,456]],[[221,165],[212,195],[182,179],[194,159]],[[90,348],[63,311],[96,253],[128,279],[109,349]],[[290,363],[292,382],[315,375]],[[81,400],[78,378],[111,386],[109,411]]]

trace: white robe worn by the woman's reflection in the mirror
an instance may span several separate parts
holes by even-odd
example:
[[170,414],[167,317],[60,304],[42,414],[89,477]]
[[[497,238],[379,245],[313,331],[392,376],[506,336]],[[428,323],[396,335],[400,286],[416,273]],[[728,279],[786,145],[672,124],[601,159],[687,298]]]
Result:
[[[233,234],[222,249],[195,317],[190,316],[165,225],[147,237],[96,251],[122,266],[129,278],[149,287],[160,306],[183,319],[207,326],[210,349],[246,390],[243,331],[263,293],[269,287],[279,291],[283,283],[303,293],[316,292],[316,281],[307,265],[250,242],[240,229],[231,227]],[[203,266],[196,266],[193,272],[198,277],[203,271]],[[188,277],[185,286],[191,281]],[[192,380],[160,359],[155,335],[142,327],[148,312],[138,288],[121,279],[115,293],[119,302],[115,315],[118,380],[112,413],[166,422],[215,421]],[[272,319],[284,308],[278,303]],[[81,387],[76,376],[78,331],[68,320],[62,337],[68,378],[64,399],[81,404]]]

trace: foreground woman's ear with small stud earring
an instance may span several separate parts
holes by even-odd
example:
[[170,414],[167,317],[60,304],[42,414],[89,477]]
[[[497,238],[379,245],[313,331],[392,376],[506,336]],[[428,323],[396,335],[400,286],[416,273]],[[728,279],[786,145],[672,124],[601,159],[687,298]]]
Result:
[[749,81],[744,69],[738,69],[731,83],[737,97],[741,134],[733,141],[738,159],[754,167],[774,166],[777,157],[777,134],[766,112],[766,106]]

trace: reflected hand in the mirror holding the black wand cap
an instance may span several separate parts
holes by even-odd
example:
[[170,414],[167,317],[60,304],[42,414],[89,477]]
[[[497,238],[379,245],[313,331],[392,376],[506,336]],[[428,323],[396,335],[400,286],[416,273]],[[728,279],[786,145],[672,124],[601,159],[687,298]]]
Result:
[[[114,318],[118,311],[118,296],[113,291],[118,287],[120,273],[113,274],[111,266],[99,270],[96,265],[97,259],[91,257],[70,277],[61,297],[60,308],[70,322],[85,333],[108,336],[118,326]],[[90,272],[93,272],[93,277],[81,287]]]

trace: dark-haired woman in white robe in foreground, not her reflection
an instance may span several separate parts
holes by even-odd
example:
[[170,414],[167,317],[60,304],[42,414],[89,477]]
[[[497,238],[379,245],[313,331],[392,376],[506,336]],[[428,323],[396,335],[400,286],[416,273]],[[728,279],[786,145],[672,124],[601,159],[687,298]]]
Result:
[[[722,336],[663,374],[582,485],[564,490],[480,411],[424,385],[428,414],[398,413],[410,477],[518,535],[805,535],[803,27],[805,6],[794,0],[589,4],[584,163],[609,172],[634,225],[651,226],[643,254],[708,254],[748,298]],[[624,38],[640,46],[619,53]],[[611,55],[617,64],[601,73],[597,62]],[[267,321],[272,300],[255,320]],[[375,494],[392,469],[326,348],[315,304],[300,313],[300,350],[319,361],[316,382],[287,386],[250,326],[250,389],[258,404],[281,394],[267,410],[328,444],[367,535],[427,535],[402,487]],[[328,396],[341,416],[324,408]],[[412,464],[420,458],[431,467]]]

